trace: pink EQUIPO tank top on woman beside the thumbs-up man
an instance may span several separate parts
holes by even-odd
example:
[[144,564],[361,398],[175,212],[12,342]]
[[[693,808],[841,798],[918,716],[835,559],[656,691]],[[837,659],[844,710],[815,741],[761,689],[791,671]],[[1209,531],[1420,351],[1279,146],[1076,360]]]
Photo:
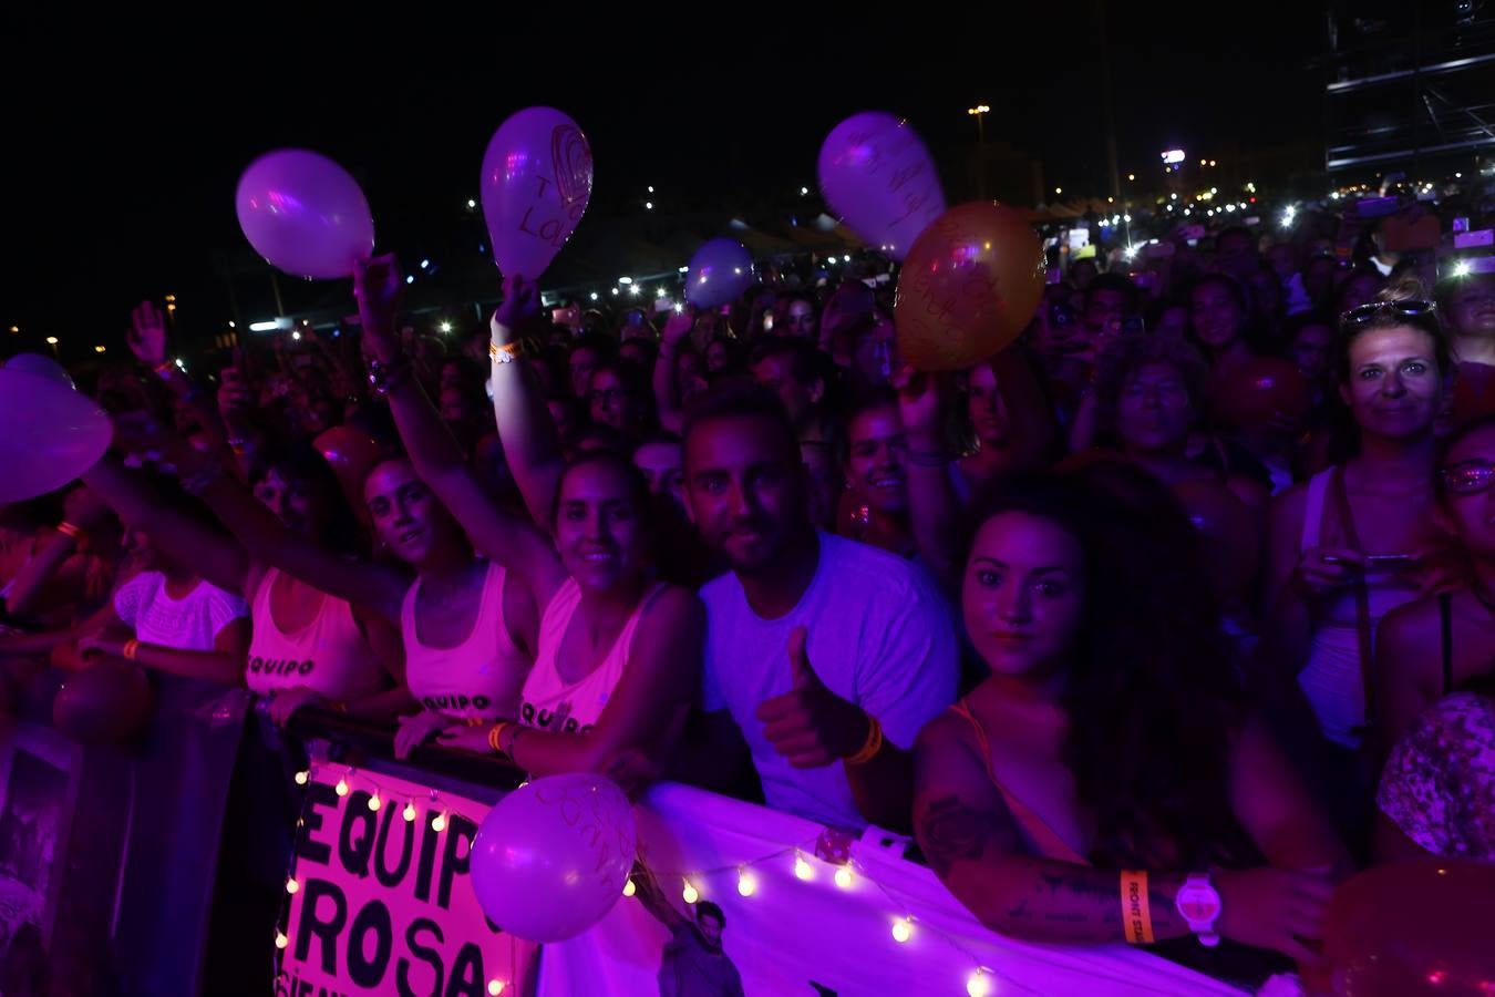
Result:
[[617,640],[613,641],[602,664],[580,682],[568,683],[561,677],[556,658],[561,653],[567,628],[582,605],[582,589],[576,578],[567,578],[552,596],[540,620],[540,653],[535,655],[534,671],[525,680],[523,704],[519,709],[520,723],[562,734],[577,731],[585,734],[595,726],[607,707],[607,700],[613,695],[613,689],[623,677],[638,620],[643,619],[644,610],[662,589],[662,581],[646,589],[638,605],[628,616],[628,622],[623,623],[623,629],[617,632]]

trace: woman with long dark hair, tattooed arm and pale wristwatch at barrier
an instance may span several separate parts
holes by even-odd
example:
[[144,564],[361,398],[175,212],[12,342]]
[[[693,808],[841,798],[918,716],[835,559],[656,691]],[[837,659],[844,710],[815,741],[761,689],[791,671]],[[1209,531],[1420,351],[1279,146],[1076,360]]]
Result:
[[1313,961],[1348,856],[1235,700],[1208,586],[1159,549],[1187,528],[1156,516],[1045,475],[975,517],[961,605],[991,677],[915,744],[919,846],[1012,937]]

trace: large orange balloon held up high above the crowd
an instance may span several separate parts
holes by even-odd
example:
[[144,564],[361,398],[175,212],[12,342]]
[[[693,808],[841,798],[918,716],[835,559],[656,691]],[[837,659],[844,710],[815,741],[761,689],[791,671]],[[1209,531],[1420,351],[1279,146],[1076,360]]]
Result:
[[925,229],[903,262],[894,318],[898,356],[916,371],[963,371],[1033,320],[1044,248],[1011,208],[972,200]]

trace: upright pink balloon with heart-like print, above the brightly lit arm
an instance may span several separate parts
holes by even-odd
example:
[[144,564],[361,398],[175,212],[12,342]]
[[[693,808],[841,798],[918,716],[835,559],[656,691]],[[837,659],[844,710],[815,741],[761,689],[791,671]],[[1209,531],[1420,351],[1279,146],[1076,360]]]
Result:
[[592,197],[592,146],[565,114],[526,108],[498,126],[480,182],[498,269],[540,280]]

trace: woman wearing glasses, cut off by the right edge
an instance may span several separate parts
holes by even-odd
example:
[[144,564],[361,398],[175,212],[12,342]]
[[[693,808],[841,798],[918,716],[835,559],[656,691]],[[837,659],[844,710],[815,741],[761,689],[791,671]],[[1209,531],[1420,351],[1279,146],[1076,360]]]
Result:
[[1398,607],[1375,635],[1377,701],[1387,743],[1440,697],[1495,670],[1495,416],[1449,438],[1437,519],[1464,549],[1468,584]]

